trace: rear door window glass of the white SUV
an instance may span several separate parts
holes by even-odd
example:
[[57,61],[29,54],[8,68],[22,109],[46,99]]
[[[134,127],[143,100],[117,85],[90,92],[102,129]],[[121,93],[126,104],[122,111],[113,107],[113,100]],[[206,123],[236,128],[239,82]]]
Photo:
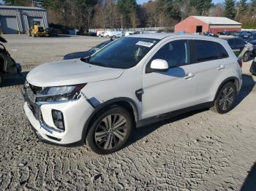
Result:
[[195,62],[212,61],[219,59],[217,43],[204,40],[195,40]]

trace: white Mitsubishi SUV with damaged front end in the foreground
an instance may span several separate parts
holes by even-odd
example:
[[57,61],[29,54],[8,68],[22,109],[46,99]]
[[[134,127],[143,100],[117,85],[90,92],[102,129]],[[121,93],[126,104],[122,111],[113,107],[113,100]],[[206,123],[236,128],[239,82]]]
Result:
[[136,34],[91,57],[30,71],[24,109],[39,139],[86,141],[109,154],[124,147],[132,128],[203,107],[229,112],[241,84],[241,63],[225,40]]

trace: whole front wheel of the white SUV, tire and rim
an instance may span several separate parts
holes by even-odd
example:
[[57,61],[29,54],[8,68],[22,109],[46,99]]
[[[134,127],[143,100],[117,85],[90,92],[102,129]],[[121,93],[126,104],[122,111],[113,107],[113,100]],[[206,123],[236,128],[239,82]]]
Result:
[[94,117],[86,144],[99,155],[116,152],[127,143],[132,133],[131,114],[120,106],[105,109]]

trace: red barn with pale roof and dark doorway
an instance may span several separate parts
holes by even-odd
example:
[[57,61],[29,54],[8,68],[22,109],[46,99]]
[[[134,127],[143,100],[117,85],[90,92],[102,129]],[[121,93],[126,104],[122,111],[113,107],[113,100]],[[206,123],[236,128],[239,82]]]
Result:
[[217,34],[221,31],[241,31],[241,23],[227,17],[190,16],[175,26],[175,32],[181,31],[190,34],[203,32]]

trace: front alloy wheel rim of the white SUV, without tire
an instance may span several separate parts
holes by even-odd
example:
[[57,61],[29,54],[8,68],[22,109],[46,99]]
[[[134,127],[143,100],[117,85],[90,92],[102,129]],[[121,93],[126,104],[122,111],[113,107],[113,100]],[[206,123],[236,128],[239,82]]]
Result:
[[121,114],[109,114],[97,125],[94,141],[101,149],[114,149],[126,138],[127,125],[126,118]]

